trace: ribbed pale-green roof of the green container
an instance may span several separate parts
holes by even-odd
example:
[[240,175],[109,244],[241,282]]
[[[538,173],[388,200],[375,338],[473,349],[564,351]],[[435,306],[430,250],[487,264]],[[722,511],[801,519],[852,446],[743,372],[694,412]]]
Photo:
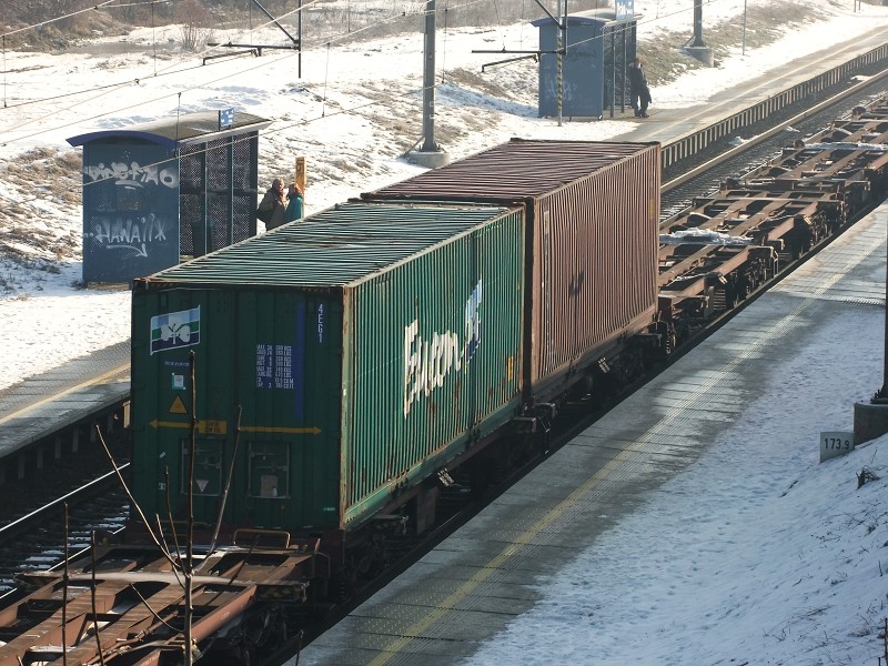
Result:
[[155,286],[350,285],[508,212],[486,205],[341,203],[145,281]]

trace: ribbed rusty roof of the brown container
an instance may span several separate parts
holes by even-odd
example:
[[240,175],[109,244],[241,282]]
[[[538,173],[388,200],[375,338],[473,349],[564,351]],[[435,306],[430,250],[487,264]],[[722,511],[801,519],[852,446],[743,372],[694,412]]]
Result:
[[512,139],[440,169],[362,194],[364,199],[428,198],[517,202],[561,188],[650,150],[656,143]]

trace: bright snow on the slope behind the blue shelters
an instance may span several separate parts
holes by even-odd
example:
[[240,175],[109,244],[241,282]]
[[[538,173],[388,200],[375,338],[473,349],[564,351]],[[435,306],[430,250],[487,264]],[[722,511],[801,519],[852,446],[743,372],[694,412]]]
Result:
[[[749,1],[751,6],[767,0]],[[422,6],[403,4],[404,11]],[[741,17],[745,4],[714,0],[705,3],[705,16],[713,22]],[[779,65],[786,60],[781,54],[798,57],[888,24],[885,7],[860,4],[854,11],[825,0],[806,4],[811,6],[823,13],[821,22],[794,27],[770,47],[745,56],[736,52],[717,68],[695,70],[656,89],[653,108],[705,103],[718,89]],[[690,33],[692,9],[684,0],[636,2],[636,11],[643,16],[639,50],[664,31]],[[73,285],[81,271],[79,203],[60,199],[51,183],[32,182],[27,169],[13,178],[17,160],[28,151],[70,152],[73,149],[65,139],[84,132],[233,105],[235,111],[274,121],[260,138],[262,186],[275,175],[291,173],[296,155],[307,157],[307,213],[418,171],[401,155],[418,140],[421,131],[421,34],[306,44],[300,79],[297,59],[286,51],[221,59],[205,67],[200,54],[163,50],[155,57],[152,44],[176,39],[178,30],[181,28],[135,30],[127,37],[125,52],[117,54],[90,56],[80,48],[71,53],[4,56],[7,108],[0,110],[0,159],[9,167],[0,172],[0,208],[4,211],[0,213],[0,330],[9,361],[0,372],[0,387],[65,356],[85,354],[129,335],[125,290]],[[454,158],[511,137],[603,140],[630,127],[623,120],[559,127],[553,119],[537,118],[536,65],[532,61],[481,75],[481,65],[496,58],[472,51],[536,48],[536,29],[528,23],[440,33],[437,63],[443,83],[436,95],[436,138]],[[215,37],[222,40],[222,36]],[[262,28],[248,37],[276,43],[280,34]],[[110,51],[108,44],[119,41],[97,40],[95,50]],[[477,91],[485,85],[497,94]],[[16,214],[13,202],[21,204],[18,211],[26,212]],[[9,260],[11,253],[18,253],[17,244],[18,252],[32,258],[32,270],[22,271]],[[64,316],[46,314],[61,312],[60,300],[65,297],[84,307],[67,307]],[[16,333],[37,331],[39,335]],[[73,331],[78,334],[70,333]],[[61,340],[63,345],[58,344]]]

